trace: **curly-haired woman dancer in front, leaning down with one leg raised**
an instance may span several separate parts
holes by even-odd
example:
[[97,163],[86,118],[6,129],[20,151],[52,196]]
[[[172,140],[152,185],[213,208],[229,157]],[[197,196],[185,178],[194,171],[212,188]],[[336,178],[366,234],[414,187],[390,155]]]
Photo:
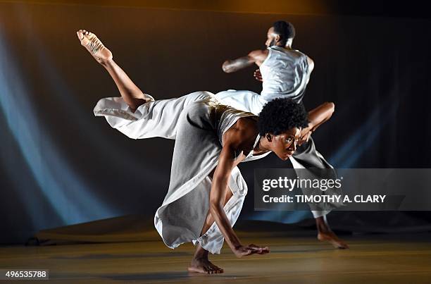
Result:
[[319,106],[307,120],[304,106],[290,99],[271,101],[260,117],[222,105],[209,92],[154,101],[113,61],[96,35],[80,30],[77,37],[121,94],[101,99],[94,114],[105,116],[128,137],[175,139],[168,194],[154,218],[163,242],[170,248],[194,242],[188,270],[199,273],[223,272],[208,260],[208,252],[220,253],[223,240],[237,257],[268,253],[268,247],[242,245],[232,229],[247,191],[237,164],[270,152],[289,159],[301,130],[329,119],[333,105]]

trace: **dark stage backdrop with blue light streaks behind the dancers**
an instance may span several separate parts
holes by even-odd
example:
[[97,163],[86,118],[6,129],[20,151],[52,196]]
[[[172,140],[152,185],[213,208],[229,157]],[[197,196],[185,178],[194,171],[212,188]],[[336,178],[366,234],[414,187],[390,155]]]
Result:
[[[220,66],[263,49],[268,27],[280,19],[294,23],[294,48],[316,63],[306,108],[335,102],[331,121],[314,135],[335,167],[430,168],[425,18],[0,3],[0,242],[125,214],[151,218],[167,191],[173,141],[130,140],[93,116],[98,99],[119,93],[76,30],[96,33],[136,85],[165,99],[196,90],[260,92],[254,68],[225,74]],[[292,223],[311,216],[253,211],[253,168],[285,166],[270,155],[240,167],[249,181],[240,218]],[[331,215],[339,226],[379,218],[394,226],[430,223],[427,212]]]

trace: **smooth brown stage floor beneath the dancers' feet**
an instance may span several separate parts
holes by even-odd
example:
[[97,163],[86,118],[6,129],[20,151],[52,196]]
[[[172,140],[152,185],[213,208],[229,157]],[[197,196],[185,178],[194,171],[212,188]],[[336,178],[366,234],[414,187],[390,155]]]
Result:
[[193,246],[172,250],[156,237],[145,242],[0,247],[0,268],[48,268],[52,283],[369,284],[431,279],[430,233],[343,236],[350,246],[346,250],[333,249],[310,234],[239,235],[244,244],[269,245],[270,254],[237,259],[225,245],[222,254],[211,258],[225,269],[217,275],[188,273]]

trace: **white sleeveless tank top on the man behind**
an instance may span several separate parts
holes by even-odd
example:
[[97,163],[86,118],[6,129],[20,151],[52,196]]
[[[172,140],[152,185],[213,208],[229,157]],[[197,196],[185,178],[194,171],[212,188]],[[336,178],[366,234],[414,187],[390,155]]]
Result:
[[261,64],[262,92],[268,101],[288,97],[300,102],[310,79],[307,56],[298,50],[268,47],[268,57]]

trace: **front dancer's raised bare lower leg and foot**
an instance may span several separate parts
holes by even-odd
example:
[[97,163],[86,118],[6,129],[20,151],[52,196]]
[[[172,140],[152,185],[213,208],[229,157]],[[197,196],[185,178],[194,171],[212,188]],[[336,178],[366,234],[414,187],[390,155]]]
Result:
[[87,30],[78,30],[76,34],[78,39],[80,39],[81,45],[92,54],[97,62],[106,68],[109,75],[113,78],[115,85],[117,85],[121,97],[123,97],[133,112],[135,112],[140,105],[151,100],[150,97],[146,96],[135,83],[130,80],[120,66],[113,61],[111,51],[102,44],[96,35]]

